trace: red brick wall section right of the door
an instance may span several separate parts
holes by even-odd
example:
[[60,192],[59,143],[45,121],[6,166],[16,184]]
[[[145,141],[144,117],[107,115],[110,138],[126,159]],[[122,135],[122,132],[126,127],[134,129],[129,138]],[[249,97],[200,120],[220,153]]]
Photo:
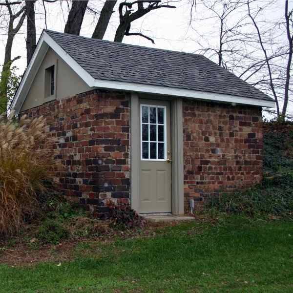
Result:
[[261,108],[186,100],[183,133],[186,210],[261,181]]

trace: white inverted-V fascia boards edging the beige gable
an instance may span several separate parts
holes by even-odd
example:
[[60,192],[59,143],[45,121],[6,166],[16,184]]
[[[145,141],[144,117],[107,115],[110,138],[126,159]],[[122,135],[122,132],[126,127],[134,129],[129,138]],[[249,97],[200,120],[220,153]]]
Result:
[[21,80],[21,84],[15,94],[14,100],[12,101],[10,110],[14,109],[16,113],[19,113],[24,99],[49,47],[51,47],[89,87],[94,86],[94,78],[88,72],[86,72],[84,68],[78,64],[69,54],[67,54],[63,48],[58,45],[45,31],[43,31],[33,57],[28,64],[28,67]]

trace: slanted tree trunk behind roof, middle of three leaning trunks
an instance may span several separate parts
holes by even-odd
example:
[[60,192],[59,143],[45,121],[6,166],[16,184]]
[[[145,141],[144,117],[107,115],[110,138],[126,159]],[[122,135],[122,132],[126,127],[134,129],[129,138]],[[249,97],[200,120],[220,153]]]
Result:
[[97,23],[97,26],[94,30],[94,33],[92,35],[93,39],[100,39],[103,40],[106,29],[108,27],[110,18],[112,16],[113,13],[113,8],[116,4],[116,0],[106,0],[105,4],[102,8],[101,14],[100,14],[100,18],[99,21]]

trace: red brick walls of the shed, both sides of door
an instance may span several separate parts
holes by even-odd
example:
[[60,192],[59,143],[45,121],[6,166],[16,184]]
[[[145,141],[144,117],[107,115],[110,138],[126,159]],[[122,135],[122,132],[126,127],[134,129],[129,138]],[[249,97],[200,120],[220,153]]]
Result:
[[[56,182],[67,198],[103,217],[108,199],[129,202],[129,97],[93,90],[23,113],[43,115],[65,170]],[[203,203],[262,178],[261,109],[184,100],[184,198]]]

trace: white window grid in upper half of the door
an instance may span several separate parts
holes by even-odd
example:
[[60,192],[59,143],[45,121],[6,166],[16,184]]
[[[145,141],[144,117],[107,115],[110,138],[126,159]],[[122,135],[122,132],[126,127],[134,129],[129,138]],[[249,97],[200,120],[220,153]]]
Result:
[[[143,123],[143,107],[148,108],[148,121],[147,123]],[[156,121],[157,123],[150,123],[149,122],[149,108],[153,107],[156,108]],[[158,108],[164,109],[164,124],[158,123]],[[166,106],[160,106],[160,105],[146,105],[141,104],[140,105],[140,128],[141,128],[141,160],[142,161],[166,161],[167,160],[167,110]],[[148,140],[143,141],[143,125],[148,125]],[[150,141],[150,125],[156,126],[156,141]],[[164,141],[158,141],[158,125],[164,126]],[[148,158],[143,158],[143,143],[148,143]],[[158,143],[164,143],[164,159],[150,159],[150,143],[156,143],[156,156],[158,157]]]

